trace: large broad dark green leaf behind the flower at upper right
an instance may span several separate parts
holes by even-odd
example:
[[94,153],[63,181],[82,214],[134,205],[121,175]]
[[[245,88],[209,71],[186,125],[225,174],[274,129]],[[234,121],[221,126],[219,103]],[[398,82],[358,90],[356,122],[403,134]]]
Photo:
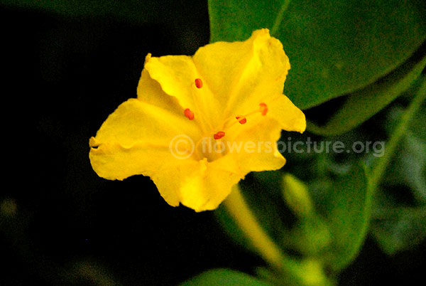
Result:
[[422,0],[209,0],[211,41],[273,28],[292,66],[285,93],[302,109],[373,83],[426,38]]

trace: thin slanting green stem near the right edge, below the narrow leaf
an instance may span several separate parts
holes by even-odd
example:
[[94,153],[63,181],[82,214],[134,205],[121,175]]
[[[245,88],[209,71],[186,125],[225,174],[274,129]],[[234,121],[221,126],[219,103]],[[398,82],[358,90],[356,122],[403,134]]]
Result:
[[408,129],[408,125],[410,124],[410,120],[420,108],[422,101],[425,100],[425,98],[426,80],[424,80],[420,85],[420,88],[417,90],[417,94],[413,98],[413,101],[410,102],[410,105],[401,117],[399,124],[391,134],[391,138],[386,144],[385,154],[383,157],[381,157],[381,159],[378,160],[376,166],[374,166],[373,170],[371,171],[369,185],[372,190],[375,190],[378,187],[378,184],[381,181],[381,177],[385,173],[386,167],[388,166],[389,161],[393,156],[393,152],[395,152],[395,149],[398,147],[398,142],[400,142],[400,139],[405,134],[406,130]]

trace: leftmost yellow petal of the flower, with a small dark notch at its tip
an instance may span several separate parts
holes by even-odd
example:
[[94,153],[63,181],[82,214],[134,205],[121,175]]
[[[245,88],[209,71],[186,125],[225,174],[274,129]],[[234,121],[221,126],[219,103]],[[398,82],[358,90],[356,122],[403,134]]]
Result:
[[156,170],[157,162],[173,159],[170,142],[180,134],[189,140],[180,142],[180,148],[188,152],[193,148],[190,138],[201,137],[198,127],[182,114],[131,98],[109,115],[96,137],[90,139],[92,167],[106,179],[148,174]]

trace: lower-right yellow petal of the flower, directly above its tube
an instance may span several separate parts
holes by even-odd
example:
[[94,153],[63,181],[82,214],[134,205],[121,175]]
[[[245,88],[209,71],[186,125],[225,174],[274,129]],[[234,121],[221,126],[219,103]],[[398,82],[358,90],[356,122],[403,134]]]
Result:
[[[233,141],[223,142],[226,155],[214,161],[199,161],[195,171],[183,178],[180,189],[183,205],[195,211],[217,208],[230,194],[231,187],[250,171],[276,170],[285,164],[285,158],[276,148],[281,128],[275,120],[263,118],[256,125],[241,128],[244,130]],[[215,152],[215,148],[210,150]]]

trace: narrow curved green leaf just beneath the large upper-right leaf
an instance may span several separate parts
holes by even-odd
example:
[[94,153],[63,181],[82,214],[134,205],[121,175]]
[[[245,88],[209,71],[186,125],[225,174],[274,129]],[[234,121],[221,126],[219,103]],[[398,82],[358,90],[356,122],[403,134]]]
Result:
[[[357,127],[395,100],[413,81],[419,78],[426,66],[426,57],[417,62],[408,61],[393,73],[347,96],[346,102],[322,126],[307,122],[307,130],[324,136],[334,136]],[[327,111],[324,111],[326,115]]]

